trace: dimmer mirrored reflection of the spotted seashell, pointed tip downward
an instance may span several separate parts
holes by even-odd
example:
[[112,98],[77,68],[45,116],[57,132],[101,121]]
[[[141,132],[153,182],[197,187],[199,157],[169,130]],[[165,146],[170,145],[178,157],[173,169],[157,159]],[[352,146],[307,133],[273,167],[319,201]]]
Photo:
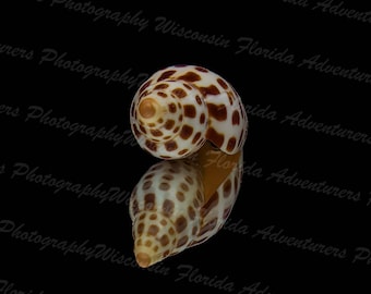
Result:
[[194,157],[161,160],[140,179],[130,198],[134,255],[147,268],[202,244],[224,225],[242,181],[242,151],[227,156],[205,144]]

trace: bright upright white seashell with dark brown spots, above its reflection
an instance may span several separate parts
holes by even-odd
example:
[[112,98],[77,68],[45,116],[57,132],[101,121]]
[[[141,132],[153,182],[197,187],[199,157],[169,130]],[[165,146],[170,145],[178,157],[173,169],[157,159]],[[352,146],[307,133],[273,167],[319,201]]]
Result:
[[196,65],[155,72],[134,95],[130,123],[139,145],[160,159],[185,158],[205,142],[234,155],[248,134],[240,96],[222,76]]

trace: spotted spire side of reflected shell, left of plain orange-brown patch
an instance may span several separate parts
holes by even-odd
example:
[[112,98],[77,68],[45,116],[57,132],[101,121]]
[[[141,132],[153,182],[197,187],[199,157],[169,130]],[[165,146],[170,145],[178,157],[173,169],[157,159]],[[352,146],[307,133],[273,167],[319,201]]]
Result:
[[190,246],[199,234],[203,186],[199,167],[190,159],[152,166],[131,194],[134,254],[158,262]]

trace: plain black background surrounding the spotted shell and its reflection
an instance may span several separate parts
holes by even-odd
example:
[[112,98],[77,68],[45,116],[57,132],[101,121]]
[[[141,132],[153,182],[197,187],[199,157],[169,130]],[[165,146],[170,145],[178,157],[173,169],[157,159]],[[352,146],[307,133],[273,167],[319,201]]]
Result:
[[[246,164],[254,162],[262,177],[244,174],[230,223],[249,228],[248,234],[222,230],[207,243],[166,259],[160,267],[168,274],[117,265],[101,259],[85,261],[84,256],[63,253],[0,234],[0,280],[14,289],[38,293],[142,293],[151,291],[200,290],[228,293],[180,278],[184,265],[200,274],[227,277],[238,293],[243,286],[260,283],[261,293],[369,293],[367,260],[352,262],[356,248],[371,250],[370,146],[280,123],[286,115],[303,111],[302,118],[371,135],[368,94],[364,82],[298,68],[303,59],[321,54],[344,69],[358,68],[371,73],[370,23],[301,8],[284,1],[249,1],[205,4],[173,2],[149,8],[144,3],[94,1],[92,4],[148,20],[148,26],[122,24],[65,9],[45,1],[12,1],[0,7],[0,45],[34,51],[33,60],[0,54],[1,105],[19,109],[13,118],[0,114],[0,213],[1,220],[24,223],[23,231],[37,230],[43,236],[91,245],[106,244],[132,257],[131,221],[124,204],[99,204],[94,197],[35,184],[23,176],[11,179],[14,163],[39,167],[73,183],[119,186],[130,192],[142,174],[157,160],[130,144],[113,146],[108,139],[92,140],[84,134],[39,123],[25,122],[29,106],[51,109],[51,117],[67,117],[89,126],[117,126],[117,134],[130,128],[129,107],[140,85],[89,76],[39,64],[43,50],[51,48],[65,60],[131,75],[152,74],[167,65],[200,64],[229,81],[250,109],[276,111],[276,120],[249,113],[249,136],[244,145]],[[344,7],[357,11],[347,1]],[[335,2],[334,2],[335,4]],[[156,32],[157,16],[173,20],[180,26],[205,34],[224,35],[228,48],[202,44]],[[240,37],[253,38],[263,48],[277,48],[295,56],[295,64],[253,56],[236,54]],[[268,111],[268,112],[270,112]],[[128,137],[128,136],[127,136]],[[288,169],[298,177],[360,192],[360,200],[339,199],[288,184],[266,181],[272,172]],[[275,225],[297,238],[346,249],[340,259],[252,237],[256,230]],[[371,256],[370,256],[371,258]],[[370,261],[371,262],[371,261]],[[1,284],[0,284],[1,286]],[[264,289],[267,290],[263,292]],[[248,291],[244,293],[249,293]],[[251,292],[253,293],[253,292]],[[255,292],[260,293],[260,292]]]

